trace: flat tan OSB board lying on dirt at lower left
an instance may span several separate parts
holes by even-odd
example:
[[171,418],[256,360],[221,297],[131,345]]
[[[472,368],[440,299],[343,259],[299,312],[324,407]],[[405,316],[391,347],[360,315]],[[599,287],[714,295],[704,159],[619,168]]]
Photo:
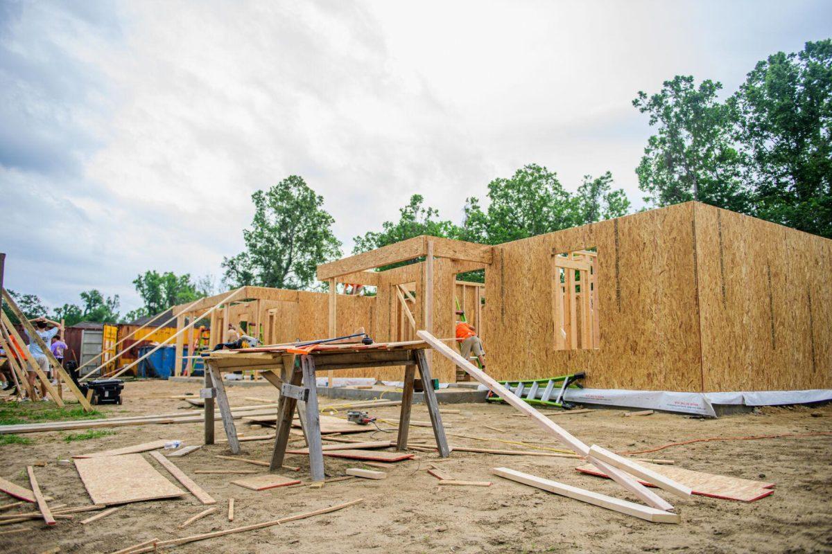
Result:
[[76,458],[74,461],[93,504],[124,504],[186,494],[156,471],[141,454]]

